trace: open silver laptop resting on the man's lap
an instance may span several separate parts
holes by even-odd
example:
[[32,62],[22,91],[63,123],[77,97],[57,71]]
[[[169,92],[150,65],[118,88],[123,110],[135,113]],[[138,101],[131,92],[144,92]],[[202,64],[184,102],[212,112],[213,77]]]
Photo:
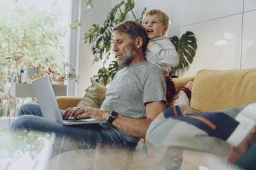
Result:
[[67,119],[63,120],[61,117],[61,110],[58,108],[58,104],[52,88],[50,77],[44,76],[38,80],[32,81],[34,93],[36,99],[39,102],[39,106],[43,117],[61,123],[62,125],[78,125],[87,123],[107,123],[107,121],[96,121],[95,119]]

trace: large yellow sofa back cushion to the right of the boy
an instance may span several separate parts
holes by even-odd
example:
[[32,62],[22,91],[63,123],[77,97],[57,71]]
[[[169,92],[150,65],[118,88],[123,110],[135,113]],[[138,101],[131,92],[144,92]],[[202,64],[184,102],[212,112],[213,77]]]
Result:
[[195,75],[191,107],[201,112],[256,102],[256,69],[202,70]]

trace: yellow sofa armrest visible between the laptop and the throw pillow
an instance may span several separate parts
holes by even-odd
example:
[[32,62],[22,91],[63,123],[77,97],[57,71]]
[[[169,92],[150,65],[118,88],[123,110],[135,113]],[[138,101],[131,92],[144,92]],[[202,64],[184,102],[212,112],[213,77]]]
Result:
[[78,102],[83,99],[83,97],[58,96],[56,99],[58,108],[61,110],[66,110],[67,108],[76,107]]

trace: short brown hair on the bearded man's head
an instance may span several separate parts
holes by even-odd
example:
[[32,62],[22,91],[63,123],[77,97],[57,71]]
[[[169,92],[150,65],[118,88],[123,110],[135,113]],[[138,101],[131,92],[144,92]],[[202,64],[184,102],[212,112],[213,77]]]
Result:
[[145,55],[149,38],[147,37],[145,28],[140,23],[136,23],[135,21],[124,21],[114,27],[113,31],[128,34],[133,42],[136,40],[136,38],[141,37],[143,39],[142,52]]

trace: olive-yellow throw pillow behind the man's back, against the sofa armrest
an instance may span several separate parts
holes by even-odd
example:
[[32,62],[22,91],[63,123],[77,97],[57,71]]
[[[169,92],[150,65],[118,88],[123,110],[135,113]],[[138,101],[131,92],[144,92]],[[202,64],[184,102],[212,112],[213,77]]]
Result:
[[107,88],[91,78],[92,86],[87,90],[85,96],[78,103],[78,107],[100,108],[105,99]]

